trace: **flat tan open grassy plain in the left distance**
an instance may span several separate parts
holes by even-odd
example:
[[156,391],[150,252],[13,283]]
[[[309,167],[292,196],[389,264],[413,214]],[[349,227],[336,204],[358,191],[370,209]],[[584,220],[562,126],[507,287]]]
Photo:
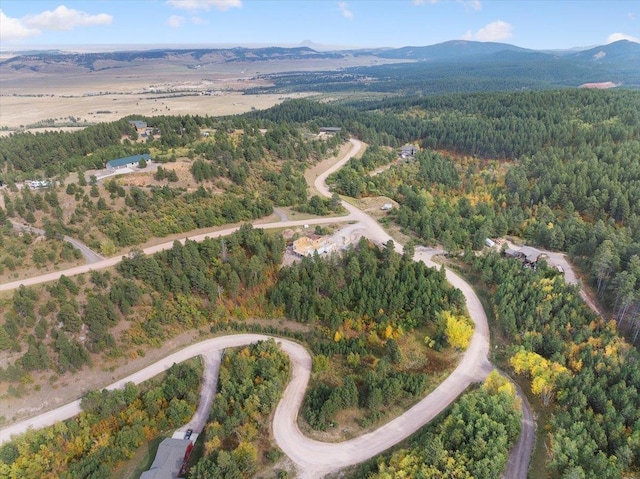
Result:
[[[286,98],[313,94],[245,95],[267,86],[257,75],[291,71],[338,70],[372,65],[380,59],[336,59],[225,62],[203,65],[158,60],[144,64],[103,65],[88,70],[77,65],[38,68],[0,66],[0,134],[42,124],[42,128],[118,120],[127,115],[239,114],[269,108]],[[50,120],[55,120],[53,123]],[[7,131],[8,130],[8,131]]]

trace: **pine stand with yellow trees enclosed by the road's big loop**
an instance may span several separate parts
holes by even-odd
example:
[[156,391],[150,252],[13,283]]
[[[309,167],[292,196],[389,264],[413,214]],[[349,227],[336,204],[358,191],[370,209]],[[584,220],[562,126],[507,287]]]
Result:
[[439,351],[468,344],[468,336],[456,342],[468,322],[462,293],[443,271],[398,255],[391,243],[379,251],[362,240],[340,257],[304,258],[281,269],[269,291],[274,307],[319,323],[330,338],[312,344],[317,376],[304,416],[314,429],[326,430],[345,409],[359,408],[369,425],[384,408],[414,402],[432,385],[431,353],[419,344],[425,336]]

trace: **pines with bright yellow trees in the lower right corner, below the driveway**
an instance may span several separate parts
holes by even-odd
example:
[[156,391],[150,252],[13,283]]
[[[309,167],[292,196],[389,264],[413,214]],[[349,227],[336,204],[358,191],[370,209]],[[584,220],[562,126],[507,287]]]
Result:
[[[589,310],[555,269],[495,254],[471,260],[490,288],[514,371],[553,403],[551,477],[619,478],[640,464],[640,354]],[[637,290],[636,290],[637,291]]]

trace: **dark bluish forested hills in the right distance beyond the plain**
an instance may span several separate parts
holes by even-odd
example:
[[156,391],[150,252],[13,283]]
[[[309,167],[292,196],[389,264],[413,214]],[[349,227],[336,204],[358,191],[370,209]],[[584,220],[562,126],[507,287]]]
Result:
[[338,72],[266,74],[261,78],[271,81],[273,87],[251,91],[442,95],[575,88],[584,84],[640,88],[640,44],[626,40],[583,54],[456,41],[386,50],[378,55],[410,63],[354,66]]

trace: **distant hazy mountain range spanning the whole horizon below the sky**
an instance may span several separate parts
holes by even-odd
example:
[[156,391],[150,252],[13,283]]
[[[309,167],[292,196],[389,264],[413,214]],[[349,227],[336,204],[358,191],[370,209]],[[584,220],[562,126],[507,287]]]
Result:
[[[378,67],[363,67],[362,59],[370,60]],[[12,72],[30,74],[57,74],[97,72],[113,68],[145,66],[152,63],[155,67],[166,63],[184,68],[201,68],[221,63],[249,63],[287,61],[284,71],[295,72],[296,62],[307,61],[305,70],[309,71],[308,60],[318,61],[318,70],[353,72],[366,74],[374,79],[384,71],[403,68],[398,63],[411,63],[412,71],[418,68],[427,71],[437,68],[452,74],[460,71],[469,74],[471,65],[482,70],[486,79],[495,75],[513,78],[522,75],[536,75],[541,72],[541,86],[579,86],[590,82],[613,82],[631,88],[640,88],[640,44],[620,40],[608,45],[589,48],[582,51],[538,51],[521,48],[507,43],[475,42],[453,40],[430,46],[407,46],[402,48],[372,48],[356,50],[318,51],[308,46],[294,48],[185,48],[154,49],[139,51],[113,51],[100,53],[66,53],[55,51],[31,51],[0,61],[0,75]],[[336,60],[333,66],[331,60]],[[359,62],[358,62],[359,61]],[[419,63],[419,66],[415,64]],[[390,65],[395,64],[395,65]],[[385,65],[388,67],[384,69]],[[357,68],[356,68],[357,66]],[[391,70],[391,67],[395,67]],[[539,68],[538,68],[539,66]],[[353,67],[353,69],[352,69]],[[358,73],[360,72],[360,73]],[[556,75],[554,77],[554,75]],[[354,77],[356,78],[356,77]],[[524,79],[524,77],[523,77]],[[487,80],[488,81],[488,80]],[[518,83],[518,82],[516,82]],[[521,84],[527,85],[526,82]]]

